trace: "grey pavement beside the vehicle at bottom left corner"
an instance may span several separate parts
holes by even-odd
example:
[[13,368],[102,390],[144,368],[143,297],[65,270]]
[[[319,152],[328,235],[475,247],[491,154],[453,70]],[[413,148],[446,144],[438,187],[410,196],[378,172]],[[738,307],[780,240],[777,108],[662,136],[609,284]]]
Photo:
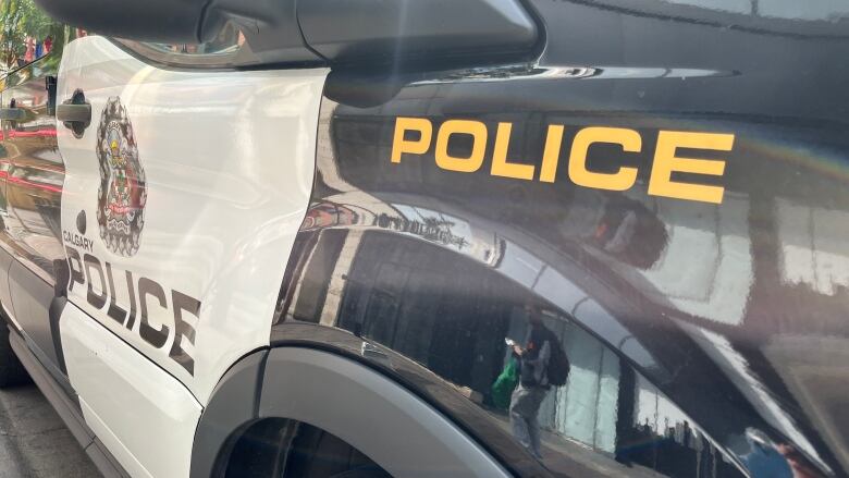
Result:
[[100,476],[35,384],[0,390],[0,478]]

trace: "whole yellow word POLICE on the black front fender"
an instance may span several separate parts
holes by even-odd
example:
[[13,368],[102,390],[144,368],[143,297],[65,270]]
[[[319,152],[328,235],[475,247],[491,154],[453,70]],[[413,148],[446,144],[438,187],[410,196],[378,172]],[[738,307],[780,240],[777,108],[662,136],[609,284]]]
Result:
[[[555,182],[563,151],[564,131],[565,126],[562,124],[547,126],[540,163],[539,181],[541,183]],[[418,132],[418,138],[407,138],[407,132]],[[522,163],[507,158],[512,132],[513,123],[501,122],[497,124],[489,173],[493,176],[533,181],[537,172],[536,164]],[[487,125],[480,121],[447,120],[439,126],[435,142],[432,142],[433,124],[430,120],[397,118],[391,160],[398,163],[403,154],[422,156],[432,150],[440,169],[464,173],[476,172],[483,166],[488,152],[488,134]],[[452,156],[448,149],[452,140],[456,140],[458,135],[470,136],[471,147],[466,154]],[[635,130],[606,126],[581,128],[575,134],[569,148],[569,180],[578,186],[595,189],[627,191],[633,187],[639,173],[638,168],[622,166],[615,172],[599,172],[587,168],[587,157],[591,146],[595,144],[619,145],[623,152],[630,154],[642,150],[642,137]],[[456,143],[454,145],[453,150],[456,155]],[[648,193],[653,196],[722,204],[725,193],[723,186],[673,181],[673,174],[722,176],[725,173],[725,160],[679,157],[677,150],[678,148],[687,148],[730,151],[733,146],[734,134],[660,131],[651,166]]]

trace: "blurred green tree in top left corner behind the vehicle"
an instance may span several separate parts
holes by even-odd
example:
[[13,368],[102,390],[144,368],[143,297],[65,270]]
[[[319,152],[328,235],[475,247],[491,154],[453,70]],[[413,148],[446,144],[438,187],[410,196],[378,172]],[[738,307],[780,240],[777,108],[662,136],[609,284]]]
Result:
[[26,52],[26,37],[44,41],[64,39],[65,27],[53,22],[33,0],[0,0],[0,69],[17,66],[17,59]]

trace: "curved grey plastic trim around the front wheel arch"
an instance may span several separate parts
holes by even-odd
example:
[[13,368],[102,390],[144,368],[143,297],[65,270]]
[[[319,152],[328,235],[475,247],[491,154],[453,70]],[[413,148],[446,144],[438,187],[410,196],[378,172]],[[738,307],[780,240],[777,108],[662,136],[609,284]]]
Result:
[[195,433],[192,478],[223,476],[241,432],[263,418],[322,428],[394,476],[509,476],[448,418],[382,373],[331,352],[283,346],[244,357],[222,378]]

